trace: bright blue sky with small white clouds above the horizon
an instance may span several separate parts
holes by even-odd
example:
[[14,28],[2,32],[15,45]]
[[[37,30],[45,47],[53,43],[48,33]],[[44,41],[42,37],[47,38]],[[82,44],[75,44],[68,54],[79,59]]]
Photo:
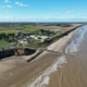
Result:
[[0,0],[0,22],[87,22],[87,0]]

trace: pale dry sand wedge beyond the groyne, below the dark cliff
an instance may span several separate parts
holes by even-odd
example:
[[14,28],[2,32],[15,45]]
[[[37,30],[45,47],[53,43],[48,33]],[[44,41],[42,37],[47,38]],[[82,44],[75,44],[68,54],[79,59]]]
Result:
[[48,49],[49,50],[59,51],[59,52],[63,52],[64,47],[70,41],[70,39],[73,37],[73,35],[76,33],[76,30],[78,30],[78,28],[76,28],[75,30],[73,30],[72,33],[70,33],[67,36],[62,37],[61,39],[59,39],[54,44],[50,45],[48,47]]

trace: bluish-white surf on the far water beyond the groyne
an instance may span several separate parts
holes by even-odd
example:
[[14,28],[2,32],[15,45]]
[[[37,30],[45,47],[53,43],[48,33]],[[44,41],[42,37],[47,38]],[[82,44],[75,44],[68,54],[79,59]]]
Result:
[[65,48],[65,53],[72,53],[79,50],[79,46],[84,40],[85,34],[87,32],[87,26],[80,27],[74,35],[74,39]]

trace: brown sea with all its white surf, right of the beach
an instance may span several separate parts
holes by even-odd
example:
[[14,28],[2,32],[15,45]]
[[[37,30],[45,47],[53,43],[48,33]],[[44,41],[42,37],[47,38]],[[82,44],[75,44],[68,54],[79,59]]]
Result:
[[87,26],[75,33],[65,53],[71,55],[59,57],[27,87],[87,87]]

